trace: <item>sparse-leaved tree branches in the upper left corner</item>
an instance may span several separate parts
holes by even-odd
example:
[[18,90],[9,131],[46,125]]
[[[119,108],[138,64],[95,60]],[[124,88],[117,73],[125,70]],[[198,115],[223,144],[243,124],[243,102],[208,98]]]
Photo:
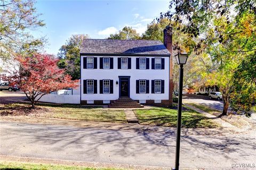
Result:
[[31,36],[31,30],[45,24],[38,19],[33,0],[1,0],[0,2],[0,57],[3,61],[16,53],[42,46],[44,40]]

